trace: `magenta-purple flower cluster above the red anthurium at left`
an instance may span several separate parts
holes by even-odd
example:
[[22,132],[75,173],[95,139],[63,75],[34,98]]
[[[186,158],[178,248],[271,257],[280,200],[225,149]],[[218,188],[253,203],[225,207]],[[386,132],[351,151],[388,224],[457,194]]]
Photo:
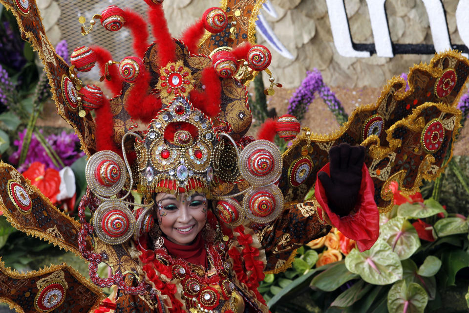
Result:
[[[19,150],[11,154],[9,162],[12,164],[18,163],[18,160],[21,155],[21,146],[23,144],[23,139],[26,134],[26,131],[27,130],[20,132],[18,134],[18,139],[14,142],[15,146],[17,146]],[[79,151],[80,140],[78,139],[76,134],[67,134],[65,131],[63,131],[62,134],[59,135],[51,134],[47,136],[45,140],[61,158],[65,166],[70,166],[78,158],[85,155],[83,152]],[[21,164],[18,170],[20,172],[25,171],[26,169],[28,169],[31,163],[35,161],[39,161],[45,164],[46,168],[55,168],[56,170],[60,170],[60,168],[57,168],[54,165],[50,157],[47,155],[44,147],[33,134],[31,138],[31,143],[29,145],[29,150],[26,156],[26,160],[24,161],[24,164]]]

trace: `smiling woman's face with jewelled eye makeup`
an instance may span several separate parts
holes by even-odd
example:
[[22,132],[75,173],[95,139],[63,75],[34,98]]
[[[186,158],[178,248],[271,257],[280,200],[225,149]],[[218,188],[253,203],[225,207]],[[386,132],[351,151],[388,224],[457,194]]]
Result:
[[207,201],[204,194],[191,197],[158,193],[156,216],[161,231],[173,243],[189,245],[207,221]]

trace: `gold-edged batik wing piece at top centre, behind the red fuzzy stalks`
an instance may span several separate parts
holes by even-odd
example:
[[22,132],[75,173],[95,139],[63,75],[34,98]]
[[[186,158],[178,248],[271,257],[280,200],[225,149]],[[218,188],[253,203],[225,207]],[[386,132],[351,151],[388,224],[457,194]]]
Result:
[[[229,21],[225,29],[218,34],[206,32],[201,41],[199,52],[210,55],[216,48],[227,46],[233,48],[245,41],[254,45],[257,15],[264,2],[265,0],[222,0],[220,8],[228,16],[233,16],[231,21],[236,21],[235,38],[234,40],[230,39],[232,23]],[[235,16],[236,11],[240,12],[239,16]]]

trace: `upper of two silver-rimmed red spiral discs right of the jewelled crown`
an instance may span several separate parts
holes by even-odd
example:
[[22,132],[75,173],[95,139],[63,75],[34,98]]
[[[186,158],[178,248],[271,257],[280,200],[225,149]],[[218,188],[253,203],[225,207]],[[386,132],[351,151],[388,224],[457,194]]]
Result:
[[251,142],[239,155],[239,171],[254,186],[275,182],[282,171],[280,150],[268,140]]

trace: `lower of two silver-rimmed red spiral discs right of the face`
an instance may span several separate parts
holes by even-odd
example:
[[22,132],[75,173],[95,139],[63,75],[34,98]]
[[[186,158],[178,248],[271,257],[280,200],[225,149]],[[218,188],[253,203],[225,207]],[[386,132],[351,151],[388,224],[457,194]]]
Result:
[[260,224],[275,220],[283,209],[283,195],[276,185],[253,188],[243,200],[246,217]]

